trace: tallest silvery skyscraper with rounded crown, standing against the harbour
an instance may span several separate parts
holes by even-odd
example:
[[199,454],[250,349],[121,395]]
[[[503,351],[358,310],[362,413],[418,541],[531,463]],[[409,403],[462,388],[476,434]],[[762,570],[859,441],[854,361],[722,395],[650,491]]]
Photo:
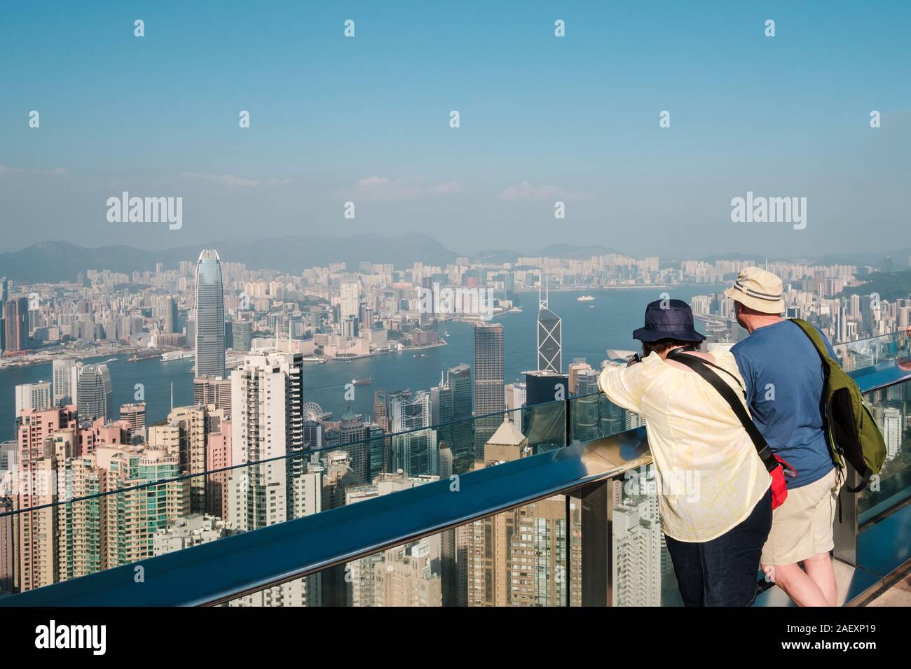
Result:
[[196,266],[196,375],[225,376],[225,302],[218,251],[206,248]]

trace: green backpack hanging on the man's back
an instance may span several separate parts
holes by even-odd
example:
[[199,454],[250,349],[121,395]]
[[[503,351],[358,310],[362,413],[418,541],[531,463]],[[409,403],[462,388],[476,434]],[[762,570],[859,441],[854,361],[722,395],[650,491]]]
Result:
[[805,320],[792,319],[804,330],[813,342],[816,352],[823,360],[825,377],[822,411],[825,419],[829,450],[835,464],[844,469],[847,460],[861,476],[856,488],[847,486],[851,492],[864,490],[870,478],[878,474],[885,461],[885,439],[864,400],[855,380],[848,376],[838,360],[829,357],[822,335]]

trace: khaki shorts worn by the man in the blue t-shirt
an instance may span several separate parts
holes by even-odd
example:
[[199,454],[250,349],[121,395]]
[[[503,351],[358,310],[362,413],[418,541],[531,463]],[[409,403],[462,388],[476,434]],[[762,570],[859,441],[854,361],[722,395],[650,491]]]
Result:
[[819,481],[788,491],[784,503],[772,512],[772,531],[763,546],[764,564],[795,564],[834,548],[832,525],[842,487],[841,471],[834,467]]

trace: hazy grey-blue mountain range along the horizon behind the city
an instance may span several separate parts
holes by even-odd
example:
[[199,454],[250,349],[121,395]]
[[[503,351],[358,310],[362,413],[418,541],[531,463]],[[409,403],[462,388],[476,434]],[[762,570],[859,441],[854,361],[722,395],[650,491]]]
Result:
[[[515,263],[520,256],[584,259],[621,253],[615,248],[598,245],[555,244],[537,250],[495,249],[469,254],[445,248],[434,238],[417,233],[391,237],[354,235],[350,238],[298,235],[257,239],[248,243],[213,240],[207,247],[218,249],[223,262],[242,262],[250,269],[277,269],[295,273],[311,267],[325,267],[335,262],[344,262],[350,269],[356,269],[357,263],[362,260],[392,263],[396,268],[405,268],[410,267],[415,261],[444,266],[459,257],[476,258],[491,263]],[[201,248],[192,246],[150,251],[127,246],[87,248],[67,241],[43,241],[17,251],[0,253],[0,277],[24,282],[65,281],[75,280],[78,273],[86,269],[109,269],[129,274],[137,269],[155,269],[156,263],[159,262],[163,263],[165,268],[174,268],[180,260],[198,258]],[[884,266],[885,255],[844,253],[814,258],[811,261],[817,264],[871,265],[878,269],[889,269]],[[894,264],[891,269],[904,269],[907,267],[911,248],[892,251],[888,255]],[[757,262],[763,260],[744,253],[703,259],[711,262],[722,258],[752,258]]]

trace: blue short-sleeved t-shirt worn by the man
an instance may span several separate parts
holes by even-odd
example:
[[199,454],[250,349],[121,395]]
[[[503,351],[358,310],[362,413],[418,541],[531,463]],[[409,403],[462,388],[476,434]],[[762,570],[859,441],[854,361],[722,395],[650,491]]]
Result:
[[[825,346],[838,360],[832,344]],[[790,320],[754,329],[731,352],[746,381],[752,420],[775,455],[796,471],[788,489],[823,478],[834,464],[823,431],[823,363],[813,342]]]

